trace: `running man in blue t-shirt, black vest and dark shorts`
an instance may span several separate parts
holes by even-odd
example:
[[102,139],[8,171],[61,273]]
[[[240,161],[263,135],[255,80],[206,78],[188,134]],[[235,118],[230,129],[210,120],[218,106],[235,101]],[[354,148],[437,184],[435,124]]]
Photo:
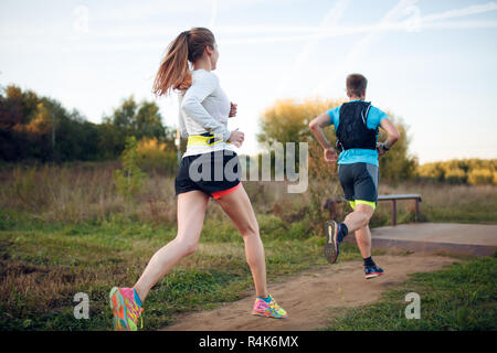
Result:
[[[339,243],[348,233],[356,232],[364,264],[364,277],[370,279],[383,274],[383,269],[371,258],[369,229],[369,221],[378,204],[380,178],[378,157],[387,153],[399,140],[400,135],[387,114],[373,107],[370,101],[364,101],[367,85],[364,76],[349,75],[347,77],[349,101],[317,116],[309,122],[309,128],[325,150],[325,161],[335,163],[338,160],[338,179],[345,199],[353,210],[346,216],[343,223],[328,221],[325,257],[330,264],[336,263]],[[337,149],[330,146],[321,130],[329,125],[335,126]],[[379,126],[388,133],[383,143],[378,143]]]

